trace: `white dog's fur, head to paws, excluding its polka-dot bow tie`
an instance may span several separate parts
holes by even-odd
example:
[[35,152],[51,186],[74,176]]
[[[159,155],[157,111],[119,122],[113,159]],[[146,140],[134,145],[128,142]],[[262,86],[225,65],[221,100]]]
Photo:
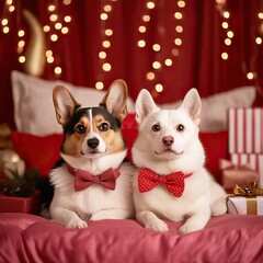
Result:
[[227,210],[224,188],[204,168],[205,152],[198,138],[201,107],[196,89],[187,92],[176,110],[160,110],[147,90],[137,98],[139,134],[132,149],[134,163],[159,175],[192,173],[181,197],[171,195],[163,185],[140,193],[138,174],[134,178],[136,217],[147,229],[168,231],[162,219],[183,220],[179,231],[187,233],[203,229],[211,216]]

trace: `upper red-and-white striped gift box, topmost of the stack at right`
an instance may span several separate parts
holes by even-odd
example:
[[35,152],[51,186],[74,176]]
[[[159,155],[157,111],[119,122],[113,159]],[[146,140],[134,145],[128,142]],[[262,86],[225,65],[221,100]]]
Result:
[[229,153],[263,153],[263,107],[229,108]]

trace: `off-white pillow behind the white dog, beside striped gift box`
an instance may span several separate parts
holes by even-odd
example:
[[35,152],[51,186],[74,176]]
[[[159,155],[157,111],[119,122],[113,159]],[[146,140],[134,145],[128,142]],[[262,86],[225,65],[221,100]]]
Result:
[[[229,107],[250,107],[255,99],[254,87],[240,87],[230,91],[202,98],[201,132],[216,133],[227,129]],[[161,108],[175,108],[182,101],[159,105]]]

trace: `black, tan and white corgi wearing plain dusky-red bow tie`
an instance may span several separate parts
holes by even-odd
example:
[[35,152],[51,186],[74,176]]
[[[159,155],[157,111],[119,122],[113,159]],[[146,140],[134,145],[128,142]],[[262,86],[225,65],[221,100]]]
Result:
[[98,107],[81,107],[61,85],[54,88],[53,99],[65,134],[65,162],[49,175],[55,186],[52,218],[67,228],[84,228],[88,219],[134,217],[135,171],[124,161],[127,148],[121,132],[127,114],[125,82],[114,81]]

